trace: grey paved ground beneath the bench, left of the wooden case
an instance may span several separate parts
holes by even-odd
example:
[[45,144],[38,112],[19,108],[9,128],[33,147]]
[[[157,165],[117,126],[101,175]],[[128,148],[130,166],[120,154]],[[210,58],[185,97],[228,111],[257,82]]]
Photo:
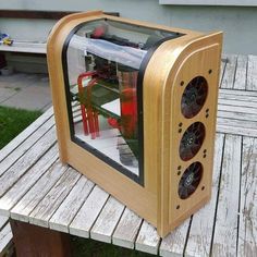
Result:
[[0,106],[47,110],[51,106],[47,74],[0,75]]

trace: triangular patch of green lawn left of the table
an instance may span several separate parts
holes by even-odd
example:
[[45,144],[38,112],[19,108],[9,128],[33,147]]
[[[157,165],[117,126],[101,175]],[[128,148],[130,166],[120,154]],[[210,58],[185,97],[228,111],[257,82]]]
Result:
[[27,111],[0,106],[0,149],[40,114],[40,111]]

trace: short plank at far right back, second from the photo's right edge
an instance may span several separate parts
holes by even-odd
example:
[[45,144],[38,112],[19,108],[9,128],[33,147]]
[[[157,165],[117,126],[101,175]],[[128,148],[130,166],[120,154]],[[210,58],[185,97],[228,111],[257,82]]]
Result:
[[238,56],[235,72],[234,89],[246,89],[247,56]]

